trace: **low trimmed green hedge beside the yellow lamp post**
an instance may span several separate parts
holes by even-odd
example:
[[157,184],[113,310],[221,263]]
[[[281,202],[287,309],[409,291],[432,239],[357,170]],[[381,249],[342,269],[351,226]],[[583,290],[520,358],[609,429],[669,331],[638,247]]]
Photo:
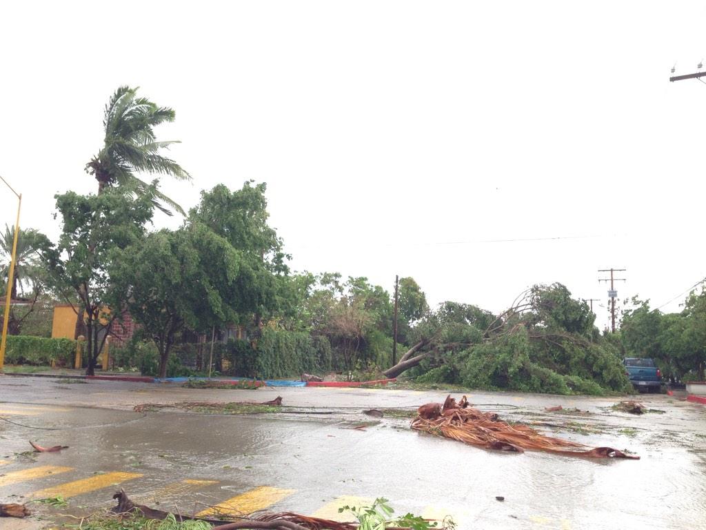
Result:
[[68,338],[44,338],[8,335],[5,363],[8,365],[50,365],[52,360],[71,366],[76,355],[76,341]]

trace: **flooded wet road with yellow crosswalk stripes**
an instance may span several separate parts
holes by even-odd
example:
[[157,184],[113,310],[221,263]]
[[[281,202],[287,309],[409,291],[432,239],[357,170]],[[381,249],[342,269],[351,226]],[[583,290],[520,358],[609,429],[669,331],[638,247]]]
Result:
[[[132,410],[143,403],[265,401],[277,395],[287,413]],[[109,507],[122,487],[138,502],[182,513],[268,508],[333,517],[342,504],[384,496],[397,512],[453,515],[460,529],[703,527],[706,407],[639,396],[664,413],[631,416],[609,408],[616,398],[468,394],[503,419],[542,423],[545,432],[586,444],[630,449],[640,461],[488,452],[414,432],[399,418],[352,428],[371,420],[360,414],[363,408],[413,408],[444,396],[0,377],[0,501],[61,495],[71,510],[90,512]],[[558,404],[590,414],[544,411]],[[20,453],[30,448],[29,439],[70,447],[28,459]]]

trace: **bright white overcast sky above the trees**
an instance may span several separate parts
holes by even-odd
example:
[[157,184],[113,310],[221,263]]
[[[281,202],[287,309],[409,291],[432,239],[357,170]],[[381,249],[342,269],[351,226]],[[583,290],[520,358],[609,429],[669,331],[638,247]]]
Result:
[[163,192],[267,182],[295,270],[500,311],[555,281],[607,306],[612,266],[656,307],[706,276],[706,86],[669,83],[705,22],[678,1],[6,2],[0,175],[55,238],[54,194],[96,191],[104,105],[140,86],[193,175]]

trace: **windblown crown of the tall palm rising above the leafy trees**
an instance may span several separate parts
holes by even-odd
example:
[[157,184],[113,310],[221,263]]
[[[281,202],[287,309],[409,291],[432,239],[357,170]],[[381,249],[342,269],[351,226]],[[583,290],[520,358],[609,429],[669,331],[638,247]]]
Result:
[[174,121],[174,110],[157,107],[147,98],[138,98],[136,88],[119,87],[105,106],[103,147],[88,164],[86,172],[98,181],[100,194],[108,186],[119,186],[133,194],[150,194],[152,203],[167,215],[172,213],[162,204],[184,215],[179,204],[150,188],[140,173],[169,175],[189,180],[191,175],[179,164],[160,155],[178,141],[156,141],[154,127]]

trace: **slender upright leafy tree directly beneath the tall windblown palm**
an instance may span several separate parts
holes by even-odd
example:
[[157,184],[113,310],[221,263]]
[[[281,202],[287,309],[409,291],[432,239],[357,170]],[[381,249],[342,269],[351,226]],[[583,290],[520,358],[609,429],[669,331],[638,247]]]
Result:
[[152,218],[150,196],[149,190],[130,196],[119,189],[56,196],[61,235],[56,245],[42,250],[42,256],[54,290],[72,290],[78,300],[77,314],[86,329],[87,375],[94,375],[105,339],[130,295],[111,281],[109,269],[116,251],[143,240],[145,224]]

